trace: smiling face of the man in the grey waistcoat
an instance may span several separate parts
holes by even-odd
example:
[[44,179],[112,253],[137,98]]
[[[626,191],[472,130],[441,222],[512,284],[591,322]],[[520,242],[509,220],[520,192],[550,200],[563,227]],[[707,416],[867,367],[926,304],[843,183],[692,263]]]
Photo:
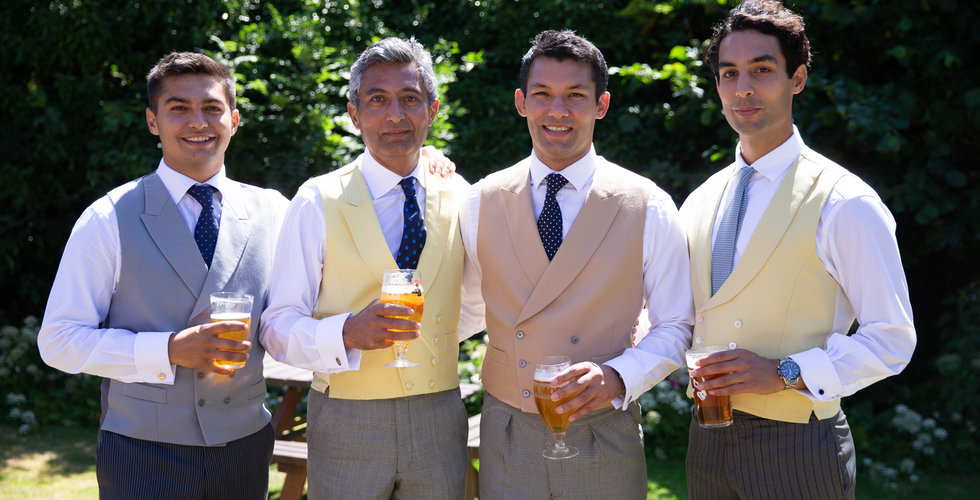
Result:
[[156,103],[146,109],[150,133],[160,137],[170,168],[204,182],[221,170],[238,110],[231,109],[219,78],[185,74],[167,77]]

